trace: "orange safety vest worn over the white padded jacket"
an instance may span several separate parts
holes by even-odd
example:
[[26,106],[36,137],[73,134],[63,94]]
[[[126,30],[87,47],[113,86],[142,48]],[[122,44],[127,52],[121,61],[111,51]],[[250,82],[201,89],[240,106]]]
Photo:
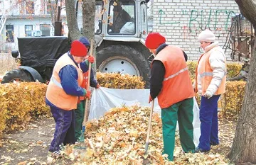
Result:
[[[210,62],[209,62],[209,58],[210,58],[210,54],[213,51],[218,51],[218,49],[211,49],[208,52],[205,52],[201,55],[201,57],[198,60],[198,64],[200,62],[200,60],[202,60],[200,62],[201,67],[198,73],[198,64],[196,67],[196,92],[198,91],[198,74],[201,75],[201,85],[202,85],[202,95],[204,93],[206,93],[206,90],[208,88],[208,86],[210,85],[210,81],[213,79],[213,69],[210,68]],[[226,66],[226,60],[225,60],[225,66]],[[227,72],[227,67],[225,67],[225,72]],[[214,95],[220,95],[225,93],[225,82],[226,82],[226,74],[223,77],[220,86],[218,86],[217,91],[214,93]]]

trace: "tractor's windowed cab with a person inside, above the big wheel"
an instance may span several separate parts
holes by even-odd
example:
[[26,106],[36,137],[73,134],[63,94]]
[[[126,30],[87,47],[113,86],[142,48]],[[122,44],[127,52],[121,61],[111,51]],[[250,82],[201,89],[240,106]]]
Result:
[[[95,4],[95,40],[146,38],[147,1],[97,1]],[[82,31],[82,1],[77,1],[78,27]]]

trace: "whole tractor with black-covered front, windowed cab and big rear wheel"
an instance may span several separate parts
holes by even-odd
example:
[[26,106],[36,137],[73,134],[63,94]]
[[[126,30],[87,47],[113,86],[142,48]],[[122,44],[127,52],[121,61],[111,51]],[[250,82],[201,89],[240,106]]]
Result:
[[[153,57],[144,46],[147,35],[146,3],[149,0],[96,0],[95,41],[97,69],[142,76],[149,87],[149,61]],[[77,1],[78,25],[82,27],[82,2]],[[104,12],[102,12],[104,11]],[[18,38],[18,51],[12,56],[21,60],[18,69],[9,71],[1,83],[13,80],[49,81],[55,61],[70,48],[65,37]]]

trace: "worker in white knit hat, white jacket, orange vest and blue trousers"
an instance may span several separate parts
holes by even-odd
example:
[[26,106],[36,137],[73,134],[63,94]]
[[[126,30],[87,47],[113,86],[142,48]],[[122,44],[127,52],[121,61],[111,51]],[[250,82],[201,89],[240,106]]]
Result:
[[225,53],[215,41],[210,30],[203,30],[198,40],[204,52],[196,67],[195,91],[201,95],[199,118],[201,136],[196,152],[208,152],[211,145],[218,145],[218,99],[225,93],[227,72]]

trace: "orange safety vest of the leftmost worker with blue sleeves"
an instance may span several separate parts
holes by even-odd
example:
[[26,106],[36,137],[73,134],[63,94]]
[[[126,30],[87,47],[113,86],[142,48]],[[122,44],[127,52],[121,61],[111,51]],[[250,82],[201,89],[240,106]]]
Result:
[[78,96],[72,96],[65,93],[63,87],[60,84],[60,76],[58,76],[60,69],[66,65],[73,65],[78,71],[78,85],[82,84],[82,70],[79,69],[70,57],[68,53],[61,56],[56,62],[53,68],[53,75],[50,78],[50,83],[48,84],[46,91],[46,98],[50,103],[61,108],[63,110],[73,110],[77,108]]

